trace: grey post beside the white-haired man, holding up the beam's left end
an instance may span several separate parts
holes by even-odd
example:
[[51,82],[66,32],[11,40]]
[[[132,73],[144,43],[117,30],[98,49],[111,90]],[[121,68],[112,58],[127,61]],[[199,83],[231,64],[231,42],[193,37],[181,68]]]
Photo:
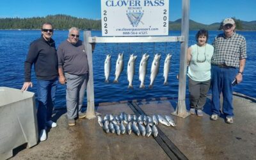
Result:
[[84,31],[84,47],[86,49],[87,60],[89,65],[89,79],[87,83],[87,109],[86,118],[95,118],[95,106],[94,106],[94,86],[93,86],[93,63],[92,63],[92,44],[88,42],[91,37],[91,31]]

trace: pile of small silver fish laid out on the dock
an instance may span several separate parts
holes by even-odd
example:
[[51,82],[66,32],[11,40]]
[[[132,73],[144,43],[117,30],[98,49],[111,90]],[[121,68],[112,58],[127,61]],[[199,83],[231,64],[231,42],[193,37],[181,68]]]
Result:
[[98,123],[106,133],[116,132],[117,135],[120,135],[125,134],[125,132],[131,134],[133,131],[137,136],[140,136],[141,134],[142,136],[149,137],[150,135],[153,135],[156,137],[158,134],[156,125],[159,123],[166,126],[176,126],[171,116],[166,115],[164,117],[161,115],[153,115],[151,117],[121,113],[120,115],[105,115],[104,118],[98,116]]

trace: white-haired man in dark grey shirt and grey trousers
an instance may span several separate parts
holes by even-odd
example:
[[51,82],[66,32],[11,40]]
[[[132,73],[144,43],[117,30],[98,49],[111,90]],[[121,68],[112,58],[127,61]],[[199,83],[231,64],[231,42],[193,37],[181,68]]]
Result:
[[68,38],[58,47],[58,72],[60,83],[67,83],[66,100],[68,125],[76,125],[76,118],[84,118],[81,112],[88,81],[88,60],[79,29],[70,28]]

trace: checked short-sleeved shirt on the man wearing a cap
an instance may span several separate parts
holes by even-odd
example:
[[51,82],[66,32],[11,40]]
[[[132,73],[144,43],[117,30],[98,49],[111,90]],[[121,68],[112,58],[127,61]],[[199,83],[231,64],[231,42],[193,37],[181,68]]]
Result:
[[239,68],[239,61],[247,58],[246,40],[244,36],[237,33],[228,38],[222,33],[215,37],[212,45],[214,53],[211,63],[214,65]]

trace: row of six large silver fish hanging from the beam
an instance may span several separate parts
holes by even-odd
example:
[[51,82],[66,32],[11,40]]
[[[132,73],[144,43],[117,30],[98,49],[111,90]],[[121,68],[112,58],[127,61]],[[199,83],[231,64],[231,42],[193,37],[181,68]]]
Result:
[[[140,80],[140,88],[145,88],[145,76],[147,74],[147,63],[148,63],[149,55],[147,53],[143,54],[141,61],[140,61],[140,68],[139,68],[139,80]],[[128,88],[133,88],[132,80],[135,73],[135,60],[137,56],[133,54],[130,55],[128,65],[127,65],[127,80],[129,81]],[[160,54],[155,54],[154,60],[151,65],[150,70],[150,84],[149,88],[153,87],[154,80],[159,72],[159,65],[160,65]],[[171,54],[167,54],[164,60],[164,70],[163,70],[163,77],[164,77],[164,85],[168,84],[168,73],[170,70],[170,60],[172,58]],[[121,72],[124,70],[124,60],[123,60],[123,53],[118,54],[118,58],[116,60],[116,70],[115,70],[115,80],[113,83],[118,83],[118,78]],[[109,75],[111,71],[111,56],[108,54],[104,64],[104,74],[105,74],[105,82],[109,83]]]

